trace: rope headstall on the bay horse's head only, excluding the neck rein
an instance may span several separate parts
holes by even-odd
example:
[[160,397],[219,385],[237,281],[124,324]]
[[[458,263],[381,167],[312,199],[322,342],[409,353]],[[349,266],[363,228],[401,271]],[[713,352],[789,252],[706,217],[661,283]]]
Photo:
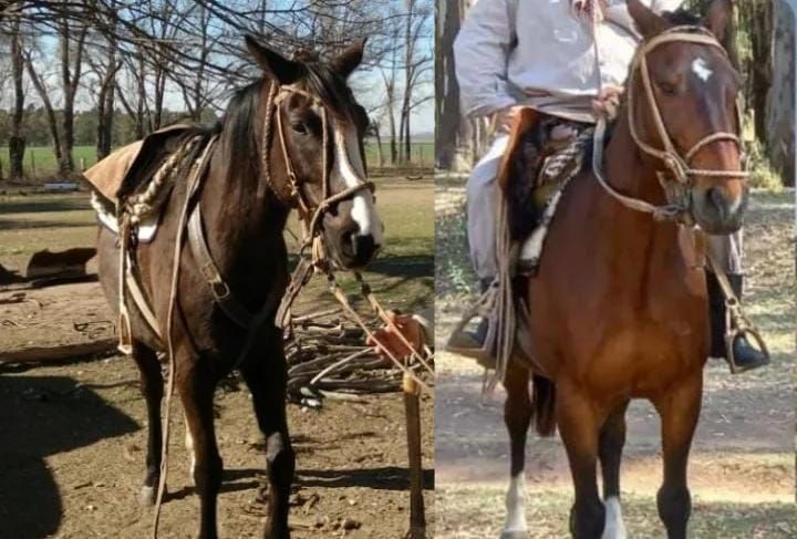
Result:
[[[677,152],[675,144],[672,142],[670,134],[667,133],[666,125],[662,118],[659,102],[655,99],[653,92],[653,83],[651,81],[650,71],[648,69],[648,54],[654,49],[659,48],[664,43],[673,42],[687,42],[696,43],[701,45],[714,46],[720,49],[723,54],[727,54],[722,44],[716,38],[706,29],[701,27],[681,25],[666,30],[655,38],[649,40],[641,46],[634,55],[631,64],[631,76],[639,71],[644,85],[645,96],[650,111],[653,116],[659,138],[662,141],[664,146],[663,149],[655,148],[644,142],[638,132],[636,122],[634,118],[634,100],[636,99],[634,92],[633,81],[628,86],[628,120],[629,129],[631,137],[633,138],[636,146],[648,155],[656,157],[666,167],[665,172],[659,172],[659,182],[664,188],[667,199],[677,207],[679,213],[682,214],[681,218],[685,217],[689,209],[689,189],[693,185],[695,176],[707,176],[714,178],[748,178],[751,174],[746,170],[720,170],[720,169],[701,169],[693,168],[691,163],[694,157],[704,148],[721,141],[733,142],[742,155],[742,163],[745,162],[744,144],[742,138],[735,133],[728,132],[715,132],[701,138],[694,146],[692,146],[683,155]],[[738,127],[742,126],[741,107],[736,103],[736,114],[738,116]]]

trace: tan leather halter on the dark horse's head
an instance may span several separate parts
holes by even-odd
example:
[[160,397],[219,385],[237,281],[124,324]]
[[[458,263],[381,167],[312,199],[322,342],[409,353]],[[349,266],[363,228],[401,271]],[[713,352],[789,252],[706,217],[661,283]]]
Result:
[[[291,95],[301,95],[309,100],[314,105],[321,108],[321,132],[322,132],[322,155],[323,155],[323,172],[321,177],[321,201],[313,208],[312,204],[307,197],[307,194],[302,189],[302,183],[296,174],[293,167],[293,160],[288,152],[288,144],[286,142],[283,118],[280,113],[280,104]],[[275,111],[277,113],[276,122],[273,122]],[[321,240],[319,222],[321,218],[329,211],[329,209],[341,200],[344,200],[364,189],[374,190],[373,182],[360,182],[352,187],[348,187],[340,193],[332,194],[332,186],[330,185],[329,164],[327,163],[328,155],[330,153],[330,141],[329,141],[329,120],[327,113],[327,106],[315,95],[310,94],[303,90],[300,90],[293,85],[282,85],[272,83],[269,89],[268,99],[266,102],[266,120],[263,125],[262,146],[260,149],[262,159],[262,174],[266,184],[275,193],[278,193],[271,179],[271,163],[270,163],[270,148],[271,148],[271,125],[277,124],[277,136],[282,152],[282,160],[286,166],[286,174],[288,176],[288,183],[290,187],[290,195],[287,204],[289,206],[297,207],[302,224],[302,245],[300,253],[308,247],[312,246],[312,258],[313,266],[321,267],[325,263],[325,255],[323,249],[323,242]]]

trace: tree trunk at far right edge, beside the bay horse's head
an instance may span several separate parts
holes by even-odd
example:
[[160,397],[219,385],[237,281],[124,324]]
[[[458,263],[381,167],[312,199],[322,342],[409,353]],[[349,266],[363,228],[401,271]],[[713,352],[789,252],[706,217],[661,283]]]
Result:
[[[795,20],[783,0],[773,2],[773,76],[762,113],[768,134],[767,155],[787,186],[795,185]],[[764,110],[762,110],[764,111]]]

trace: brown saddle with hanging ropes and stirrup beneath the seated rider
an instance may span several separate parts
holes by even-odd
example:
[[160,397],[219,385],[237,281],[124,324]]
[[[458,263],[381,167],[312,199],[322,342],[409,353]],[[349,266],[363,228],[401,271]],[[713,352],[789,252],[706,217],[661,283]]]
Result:
[[[536,273],[561,194],[588,160],[592,134],[589,124],[556,118],[534,108],[520,111],[497,175],[503,194],[497,216],[500,276],[454,329],[446,344],[448,351],[475,357],[488,369],[496,367],[497,351],[506,349],[499,344],[508,338],[506,329],[517,328],[513,338],[517,355],[534,365],[530,335],[522,330],[529,313],[522,301],[509,299],[513,294],[507,290],[511,281],[526,284],[516,278],[518,274]],[[476,320],[489,321],[484,341],[478,343],[478,339],[468,336],[477,332],[466,330]]]

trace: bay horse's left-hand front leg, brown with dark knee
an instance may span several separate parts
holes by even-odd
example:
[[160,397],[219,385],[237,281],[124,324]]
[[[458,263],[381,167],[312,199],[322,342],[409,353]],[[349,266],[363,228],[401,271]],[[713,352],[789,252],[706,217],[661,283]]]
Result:
[[570,532],[576,539],[600,539],[605,509],[598,494],[598,437],[607,414],[569,381],[557,381],[556,413],[576,490]]

